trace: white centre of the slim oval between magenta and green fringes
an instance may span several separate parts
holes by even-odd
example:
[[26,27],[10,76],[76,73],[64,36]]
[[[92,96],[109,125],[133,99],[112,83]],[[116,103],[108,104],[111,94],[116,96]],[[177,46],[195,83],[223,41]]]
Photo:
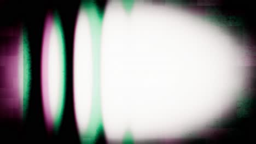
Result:
[[60,111],[62,99],[62,59],[61,59],[61,41],[57,33],[57,27],[54,23],[49,38],[48,53],[48,88],[49,88],[49,105],[51,117],[55,118]]

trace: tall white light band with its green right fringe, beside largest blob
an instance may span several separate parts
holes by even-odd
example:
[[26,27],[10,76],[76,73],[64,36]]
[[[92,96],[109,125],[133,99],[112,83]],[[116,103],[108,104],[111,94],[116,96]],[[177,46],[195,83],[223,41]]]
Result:
[[103,130],[100,101],[101,14],[95,3],[80,7],[74,37],[74,109],[82,143]]

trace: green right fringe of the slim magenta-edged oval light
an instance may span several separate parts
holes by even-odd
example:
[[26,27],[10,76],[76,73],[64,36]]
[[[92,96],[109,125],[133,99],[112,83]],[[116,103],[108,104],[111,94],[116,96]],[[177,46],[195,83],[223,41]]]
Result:
[[57,110],[57,115],[54,116],[54,132],[57,133],[59,131],[61,125],[61,119],[63,115],[63,109],[65,104],[65,89],[66,89],[66,53],[65,53],[65,38],[61,26],[61,20],[59,14],[55,11],[54,13],[54,27],[56,28],[56,32],[58,35],[58,40],[60,41],[60,53],[61,53],[61,79],[60,79],[60,104]]

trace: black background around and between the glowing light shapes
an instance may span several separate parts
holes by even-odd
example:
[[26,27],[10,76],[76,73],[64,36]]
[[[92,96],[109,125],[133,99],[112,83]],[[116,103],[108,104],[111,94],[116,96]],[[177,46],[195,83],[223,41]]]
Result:
[[[196,1],[184,1],[193,3]],[[247,34],[251,39],[255,38],[255,7],[253,2],[246,1],[218,1],[221,3],[217,7],[223,14],[234,14],[242,17],[245,22]],[[107,1],[95,1],[102,13]],[[68,142],[79,143],[77,129],[75,128],[74,111],[73,111],[73,36],[74,26],[77,13],[79,10],[80,1],[49,1],[49,0],[33,0],[33,1],[0,1],[0,32],[4,31],[6,26],[18,26],[23,23],[28,30],[28,41],[30,42],[31,51],[31,92],[28,106],[27,118],[24,123],[18,120],[0,117],[0,143],[52,143],[52,142]],[[212,7],[212,6],[198,6],[198,7]],[[42,35],[44,28],[44,20],[48,10],[57,10],[60,14],[63,31],[66,43],[66,71],[67,71],[67,88],[65,109],[62,118],[60,133],[58,135],[48,135],[44,127],[43,109],[40,92],[40,56],[42,46]],[[1,39],[4,39],[1,36]],[[252,41],[252,46],[255,45],[255,40]],[[1,45],[0,48],[2,49]],[[2,52],[2,51],[0,51]],[[1,61],[1,59],[0,59]],[[2,67],[0,67],[0,74],[3,74]],[[252,67],[252,69],[255,69]],[[255,70],[253,70],[254,72]],[[3,76],[0,76],[4,79]],[[0,79],[0,80],[1,80]],[[225,125],[231,128],[230,132],[218,140],[208,141],[206,139],[195,139],[188,141],[188,143],[250,143],[256,142],[255,128],[255,77],[251,77],[252,87],[250,95],[252,97],[250,109],[251,115],[246,118],[236,119],[234,122]],[[3,85],[0,82],[0,85]],[[2,94],[0,93],[0,97]],[[1,99],[0,99],[1,100]],[[0,103],[1,104],[1,103]],[[2,111],[1,113],[8,112]],[[252,142],[253,141],[253,142]],[[97,143],[105,143],[104,132],[102,131],[98,137]]]

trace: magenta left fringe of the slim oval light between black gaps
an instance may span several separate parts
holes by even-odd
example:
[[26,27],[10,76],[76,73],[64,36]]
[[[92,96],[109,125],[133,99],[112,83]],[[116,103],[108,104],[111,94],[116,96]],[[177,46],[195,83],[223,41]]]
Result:
[[48,88],[48,52],[49,52],[49,42],[50,33],[53,27],[53,15],[48,13],[45,24],[44,24],[44,34],[42,43],[42,60],[41,60],[41,82],[42,82],[42,101],[44,109],[44,119],[46,123],[46,129],[51,131],[53,129],[53,117],[50,111],[49,102],[49,88]]

